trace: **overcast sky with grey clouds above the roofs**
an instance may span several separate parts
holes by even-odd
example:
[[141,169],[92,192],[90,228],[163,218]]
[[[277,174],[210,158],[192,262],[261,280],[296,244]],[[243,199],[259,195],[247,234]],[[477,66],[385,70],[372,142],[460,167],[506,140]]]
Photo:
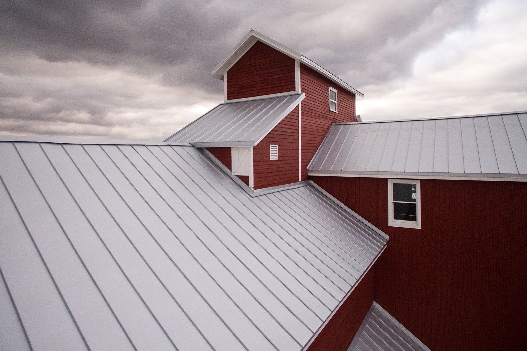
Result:
[[527,1],[0,5],[0,134],[161,140],[223,101],[250,28],[365,94],[365,120],[527,109]]

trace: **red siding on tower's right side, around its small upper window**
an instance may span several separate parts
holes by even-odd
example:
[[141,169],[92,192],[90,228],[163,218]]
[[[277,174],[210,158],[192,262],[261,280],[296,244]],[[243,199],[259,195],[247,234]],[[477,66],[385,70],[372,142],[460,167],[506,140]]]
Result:
[[[338,113],[329,110],[329,87],[337,90]],[[333,123],[355,122],[355,94],[331,82],[323,75],[300,64],[302,180],[307,180],[307,165],[315,155]]]

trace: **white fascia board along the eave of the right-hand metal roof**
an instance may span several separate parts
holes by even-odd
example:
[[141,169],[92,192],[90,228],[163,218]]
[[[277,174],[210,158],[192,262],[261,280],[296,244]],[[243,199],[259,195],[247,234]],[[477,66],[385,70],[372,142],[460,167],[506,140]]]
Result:
[[493,173],[343,173],[340,171],[308,171],[310,176],[326,177],[363,177],[363,178],[398,178],[398,179],[445,179],[445,180],[493,180],[500,182],[527,182],[527,174],[493,174]]

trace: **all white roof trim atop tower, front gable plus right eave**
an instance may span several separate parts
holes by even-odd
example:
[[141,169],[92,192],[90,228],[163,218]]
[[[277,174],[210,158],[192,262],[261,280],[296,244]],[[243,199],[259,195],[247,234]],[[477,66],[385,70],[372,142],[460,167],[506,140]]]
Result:
[[269,45],[272,48],[277,49],[279,52],[286,54],[287,56],[290,56],[296,60],[299,60],[301,63],[305,64],[306,66],[315,69],[318,73],[325,76],[326,78],[330,79],[331,81],[337,83],[341,87],[345,88],[347,91],[352,92],[353,94],[356,94],[360,97],[364,97],[364,94],[359,92],[357,89],[353,88],[348,83],[344,82],[342,79],[337,77],[336,75],[330,73],[326,68],[320,66],[319,64],[311,61],[306,56],[300,54],[299,52],[278,43],[277,41],[269,38],[268,36],[265,36],[264,34],[261,34],[254,29],[251,28],[249,33],[247,33],[241,41],[235,46],[235,48],[230,52],[230,54],[227,56],[226,59],[224,59],[216,68],[212,70],[210,73],[211,77],[218,78],[223,81],[225,77],[223,75],[225,72],[228,71],[232,65],[234,65],[241,56],[243,56],[248,49],[251,48],[253,44],[255,44],[257,41],[260,41],[264,44]]

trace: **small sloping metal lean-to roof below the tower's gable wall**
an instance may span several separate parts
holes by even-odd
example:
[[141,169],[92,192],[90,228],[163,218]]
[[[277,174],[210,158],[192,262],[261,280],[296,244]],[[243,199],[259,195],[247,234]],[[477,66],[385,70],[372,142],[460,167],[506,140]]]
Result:
[[305,97],[298,93],[223,103],[165,141],[197,147],[255,146]]

